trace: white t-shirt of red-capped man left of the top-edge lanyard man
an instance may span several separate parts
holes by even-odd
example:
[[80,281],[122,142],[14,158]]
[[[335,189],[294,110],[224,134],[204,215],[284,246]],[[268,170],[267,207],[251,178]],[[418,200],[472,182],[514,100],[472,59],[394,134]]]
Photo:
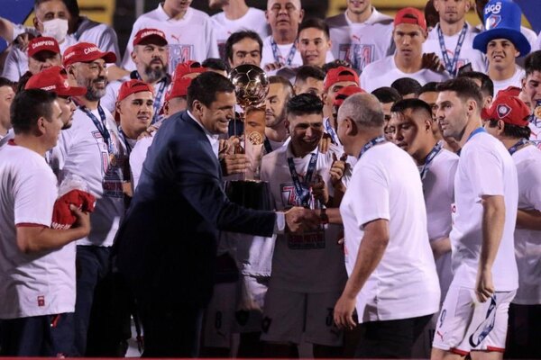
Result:
[[447,73],[436,73],[432,70],[423,68],[415,73],[404,73],[396,66],[394,55],[381,60],[372,62],[361,74],[361,87],[367,93],[371,93],[381,86],[390,86],[395,80],[401,77],[411,77],[416,79],[420,85],[425,85],[431,81],[440,83],[448,80],[451,76]]

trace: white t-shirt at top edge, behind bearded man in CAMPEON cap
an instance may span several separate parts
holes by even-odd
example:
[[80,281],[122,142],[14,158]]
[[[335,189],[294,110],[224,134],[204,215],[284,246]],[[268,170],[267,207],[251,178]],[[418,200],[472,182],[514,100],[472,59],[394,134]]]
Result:
[[206,58],[219,58],[215,30],[210,17],[202,11],[188,8],[182,19],[175,20],[165,13],[161,4],[156,10],[142,14],[133,23],[132,34],[124,52],[122,67],[135,70],[132,60],[133,37],[141,29],[160,29],[169,42],[169,73],[175,71],[179,63],[188,60],[203,62]]

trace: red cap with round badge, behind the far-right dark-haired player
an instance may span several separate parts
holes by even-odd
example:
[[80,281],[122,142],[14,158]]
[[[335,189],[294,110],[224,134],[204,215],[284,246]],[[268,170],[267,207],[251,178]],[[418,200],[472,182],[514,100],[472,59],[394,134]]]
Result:
[[483,120],[502,120],[511,125],[528,126],[530,110],[527,104],[515,96],[501,95],[494,100],[489,110],[483,109]]

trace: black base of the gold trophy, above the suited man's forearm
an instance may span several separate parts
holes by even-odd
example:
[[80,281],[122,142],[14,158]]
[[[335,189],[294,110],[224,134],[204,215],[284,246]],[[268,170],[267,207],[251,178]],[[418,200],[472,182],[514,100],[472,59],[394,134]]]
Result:
[[231,202],[253,210],[272,211],[271,191],[266,181],[231,180],[225,182]]

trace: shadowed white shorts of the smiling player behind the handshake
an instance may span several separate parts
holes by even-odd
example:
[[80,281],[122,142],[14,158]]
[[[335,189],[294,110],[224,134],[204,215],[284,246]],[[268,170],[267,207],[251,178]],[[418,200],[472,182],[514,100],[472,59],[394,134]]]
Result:
[[270,288],[263,311],[261,340],[341,347],[344,334],[336,328],[333,310],[342,292],[293,293]]

